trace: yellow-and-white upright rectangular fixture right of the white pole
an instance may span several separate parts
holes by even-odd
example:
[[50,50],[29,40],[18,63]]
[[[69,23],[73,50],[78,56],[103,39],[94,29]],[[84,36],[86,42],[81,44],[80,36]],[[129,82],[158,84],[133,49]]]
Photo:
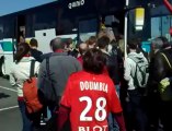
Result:
[[145,9],[137,8],[135,9],[135,29],[141,31],[145,22]]

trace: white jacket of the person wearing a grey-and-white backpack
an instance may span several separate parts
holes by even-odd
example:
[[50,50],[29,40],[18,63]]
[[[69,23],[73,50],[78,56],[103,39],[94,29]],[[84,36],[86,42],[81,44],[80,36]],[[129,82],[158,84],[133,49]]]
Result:
[[[135,90],[135,85],[134,85],[134,79],[131,78],[131,74],[135,74],[136,72],[136,62],[134,60],[131,60],[129,58],[129,56],[133,57],[140,57],[140,58],[145,58],[144,53],[137,53],[137,52],[129,52],[128,57],[126,58],[126,60],[124,61],[124,79],[128,82],[128,90]],[[145,58],[145,60],[147,61],[147,59]]]

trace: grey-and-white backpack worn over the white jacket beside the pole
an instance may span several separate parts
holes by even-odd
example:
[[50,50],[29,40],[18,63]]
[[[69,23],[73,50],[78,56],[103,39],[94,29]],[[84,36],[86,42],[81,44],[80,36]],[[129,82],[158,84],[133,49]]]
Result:
[[131,57],[129,58],[136,63],[136,71],[134,74],[131,74],[131,78],[134,79],[134,85],[136,87],[146,87],[148,82],[148,61],[145,59],[145,57]]

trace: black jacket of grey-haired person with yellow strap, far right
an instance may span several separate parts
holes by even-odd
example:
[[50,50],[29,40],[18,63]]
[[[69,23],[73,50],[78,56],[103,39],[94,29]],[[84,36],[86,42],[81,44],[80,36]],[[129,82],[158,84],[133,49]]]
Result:
[[164,78],[172,76],[172,69],[170,69],[165,58],[161,55],[164,53],[172,64],[172,49],[164,49],[157,52],[150,60],[149,64],[149,80],[148,92],[157,92],[158,84]]

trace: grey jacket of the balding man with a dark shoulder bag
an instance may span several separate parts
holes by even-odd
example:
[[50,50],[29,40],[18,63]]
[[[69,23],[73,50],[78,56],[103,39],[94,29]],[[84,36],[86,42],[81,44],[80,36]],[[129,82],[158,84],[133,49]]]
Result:
[[[56,95],[61,96],[69,75],[82,69],[78,60],[66,52],[53,52],[49,58],[50,79],[56,90]],[[46,59],[41,63],[38,73],[38,87],[42,87],[43,76],[47,74]]]

